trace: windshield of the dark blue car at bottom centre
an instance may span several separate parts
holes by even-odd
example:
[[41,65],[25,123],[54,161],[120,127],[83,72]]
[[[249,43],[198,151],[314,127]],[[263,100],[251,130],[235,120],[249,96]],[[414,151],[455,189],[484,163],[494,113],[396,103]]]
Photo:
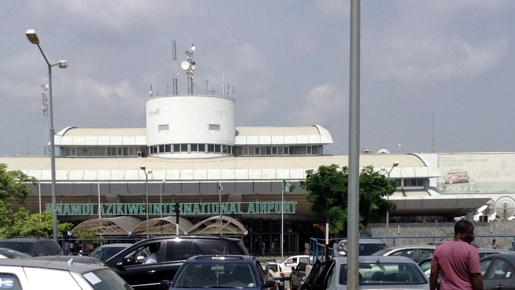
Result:
[[174,288],[255,288],[250,263],[186,263],[177,272]]

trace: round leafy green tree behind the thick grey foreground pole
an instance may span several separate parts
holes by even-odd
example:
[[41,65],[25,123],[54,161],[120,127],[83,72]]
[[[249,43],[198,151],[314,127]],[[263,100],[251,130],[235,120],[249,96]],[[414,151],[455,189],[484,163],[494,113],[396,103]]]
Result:
[[[308,191],[306,200],[317,216],[326,216],[332,233],[347,234],[347,192],[349,169],[336,164],[322,165],[317,170],[307,170],[306,180],[300,185]],[[373,166],[364,167],[359,174],[359,227],[385,221],[386,212],[397,208],[387,197],[395,192],[396,181],[376,172]]]

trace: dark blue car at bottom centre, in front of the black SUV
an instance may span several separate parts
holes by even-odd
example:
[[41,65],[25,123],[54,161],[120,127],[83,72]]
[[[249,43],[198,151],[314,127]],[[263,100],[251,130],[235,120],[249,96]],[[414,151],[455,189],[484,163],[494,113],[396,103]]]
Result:
[[203,255],[192,257],[180,267],[174,280],[162,281],[169,290],[181,288],[245,288],[263,290],[277,287],[266,280],[261,263],[248,255]]

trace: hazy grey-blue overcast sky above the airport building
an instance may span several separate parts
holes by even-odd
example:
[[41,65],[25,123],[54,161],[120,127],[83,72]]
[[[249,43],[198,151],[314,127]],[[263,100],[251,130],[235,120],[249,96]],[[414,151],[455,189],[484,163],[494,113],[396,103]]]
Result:
[[[436,152],[514,151],[514,14],[514,1],[363,0],[360,148],[430,152],[434,124]],[[180,64],[191,40],[194,93],[221,95],[225,71],[237,126],[318,124],[348,153],[349,28],[350,1],[3,2],[0,155],[43,155],[47,66],[27,29],[69,63],[52,71],[56,132],[145,127],[166,69],[168,93],[175,71],[187,93],[171,52]]]

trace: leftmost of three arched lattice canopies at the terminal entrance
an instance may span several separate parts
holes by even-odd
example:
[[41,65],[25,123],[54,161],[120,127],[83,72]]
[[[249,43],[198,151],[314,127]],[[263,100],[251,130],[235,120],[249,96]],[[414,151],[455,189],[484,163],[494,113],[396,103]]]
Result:
[[72,232],[84,229],[100,232],[103,235],[131,235],[140,223],[138,218],[132,216],[95,218],[83,221],[73,228]]

